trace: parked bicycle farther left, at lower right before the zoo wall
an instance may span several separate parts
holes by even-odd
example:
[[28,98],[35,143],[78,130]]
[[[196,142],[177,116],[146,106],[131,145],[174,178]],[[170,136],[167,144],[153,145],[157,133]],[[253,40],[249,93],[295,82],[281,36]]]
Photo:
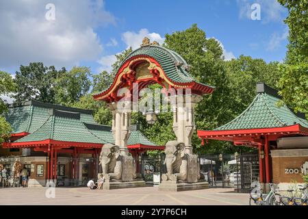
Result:
[[270,192],[268,194],[260,194],[261,190],[259,189],[258,193],[253,193],[253,190],[257,188],[253,188],[250,193],[249,205],[279,205],[279,201],[281,200],[281,194],[276,193],[274,185],[272,183],[270,185]]

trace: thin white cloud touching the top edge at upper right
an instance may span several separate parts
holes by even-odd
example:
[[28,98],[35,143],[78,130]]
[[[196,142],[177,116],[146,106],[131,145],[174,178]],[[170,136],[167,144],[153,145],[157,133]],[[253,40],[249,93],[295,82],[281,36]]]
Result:
[[240,7],[240,18],[251,19],[251,5],[258,3],[261,9],[261,21],[268,23],[270,21],[282,21],[285,8],[277,0],[236,0]]

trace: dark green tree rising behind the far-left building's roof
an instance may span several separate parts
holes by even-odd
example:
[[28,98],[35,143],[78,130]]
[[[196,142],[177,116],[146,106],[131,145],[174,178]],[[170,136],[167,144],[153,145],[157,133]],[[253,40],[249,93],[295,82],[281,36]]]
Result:
[[42,62],[21,65],[20,72],[16,71],[14,79],[18,88],[14,94],[16,102],[37,99],[55,103],[55,80],[65,71],[65,68],[57,71],[54,66],[44,66]]

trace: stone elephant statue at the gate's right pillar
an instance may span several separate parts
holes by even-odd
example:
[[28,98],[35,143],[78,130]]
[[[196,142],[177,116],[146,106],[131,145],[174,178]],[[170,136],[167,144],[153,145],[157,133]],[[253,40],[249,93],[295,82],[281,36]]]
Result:
[[162,175],[162,180],[185,181],[188,174],[187,154],[185,144],[177,141],[169,141],[165,148],[167,174]]

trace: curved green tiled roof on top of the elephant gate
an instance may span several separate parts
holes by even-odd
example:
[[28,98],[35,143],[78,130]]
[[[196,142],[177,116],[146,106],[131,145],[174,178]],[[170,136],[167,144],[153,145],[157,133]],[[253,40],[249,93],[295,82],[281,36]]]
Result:
[[[162,66],[164,73],[166,73],[166,76],[171,80],[175,81],[177,83],[189,83],[189,82],[196,82],[203,86],[207,86],[209,88],[215,88],[214,86],[209,86],[205,83],[201,83],[196,81],[190,73],[188,73],[188,64],[185,62],[183,57],[176,53],[175,51],[171,51],[170,49],[166,49],[165,47],[161,47],[158,45],[148,45],[144,47],[140,47],[139,49],[136,49],[135,51],[132,51],[127,55],[125,60],[120,64],[120,67],[127,62],[131,57],[135,57],[138,55],[147,55],[149,57],[153,57],[159,64]],[[120,67],[118,69],[120,69]],[[112,84],[110,85],[112,86]],[[102,92],[105,92],[107,89],[98,92],[97,94],[101,94]],[[95,95],[95,94],[94,94]]]

